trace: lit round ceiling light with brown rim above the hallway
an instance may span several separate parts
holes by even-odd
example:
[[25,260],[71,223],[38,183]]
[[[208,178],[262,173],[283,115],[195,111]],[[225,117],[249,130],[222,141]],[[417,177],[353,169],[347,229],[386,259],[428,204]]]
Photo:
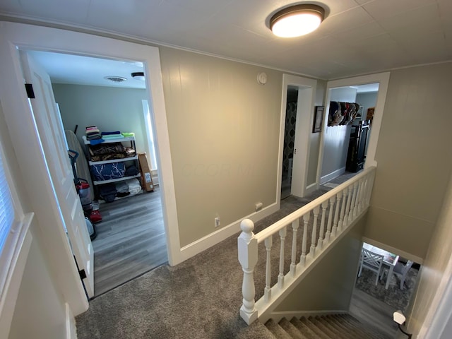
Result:
[[321,6],[298,4],[276,12],[270,18],[270,30],[278,37],[299,37],[316,30],[324,17]]

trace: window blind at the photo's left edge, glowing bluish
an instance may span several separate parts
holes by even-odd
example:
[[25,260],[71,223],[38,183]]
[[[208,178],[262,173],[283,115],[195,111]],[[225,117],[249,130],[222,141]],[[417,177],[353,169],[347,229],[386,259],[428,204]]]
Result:
[[14,209],[11,193],[4,170],[4,162],[0,151],[0,253],[3,251],[11,225],[13,225]]

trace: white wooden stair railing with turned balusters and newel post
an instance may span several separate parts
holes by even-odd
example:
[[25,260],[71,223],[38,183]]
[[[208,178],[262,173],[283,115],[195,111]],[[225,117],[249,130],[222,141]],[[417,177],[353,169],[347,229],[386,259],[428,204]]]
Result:
[[[293,285],[307,268],[315,264],[316,258],[319,258],[323,251],[334,245],[354,220],[365,213],[369,206],[375,169],[376,167],[364,169],[352,179],[257,234],[253,233],[254,222],[249,219],[242,220],[240,224],[242,233],[237,239],[237,244],[239,263],[242,265],[244,273],[243,304],[240,308],[240,315],[246,323],[252,323],[263,311],[266,311],[287,290],[289,285]],[[303,232],[301,244],[297,237],[300,224]],[[288,229],[292,232],[290,259],[285,258]],[[311,237],[308,237],[308,231],[311,232]],[[279,235],[277,240],[280,242],[279,272],[277,280],[272,285],[270,257],[275,234]],[[266,278],[263,296],[256,302],[254,268],[258,262],[258,244],[261,243],[264,243],[266,247]],[[301,245],[301,251],[299,245]],[[301,254],[299,254],[300,252]],[[297,254],[299,254],[299,258]],[[290,264],[288,264],[289,260]]]

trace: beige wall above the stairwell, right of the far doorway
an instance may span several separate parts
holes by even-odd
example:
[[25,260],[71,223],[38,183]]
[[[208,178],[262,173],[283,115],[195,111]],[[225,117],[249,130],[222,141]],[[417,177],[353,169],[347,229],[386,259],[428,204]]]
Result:
[[376,148],[365,236],[421,258],[452,169],[451,76],[452,63],[392,71]]

